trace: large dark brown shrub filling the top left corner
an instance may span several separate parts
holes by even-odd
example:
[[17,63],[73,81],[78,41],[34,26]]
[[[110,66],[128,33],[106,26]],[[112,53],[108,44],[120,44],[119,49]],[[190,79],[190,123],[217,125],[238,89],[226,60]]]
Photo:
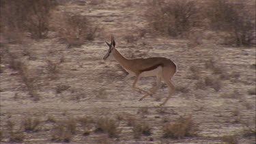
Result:
[[55,0],[1,0],[1,31],[9,42],[20,41],[24,33],[29,32],[31,38],[45,38],[48,33],[51,10],[55,8]]

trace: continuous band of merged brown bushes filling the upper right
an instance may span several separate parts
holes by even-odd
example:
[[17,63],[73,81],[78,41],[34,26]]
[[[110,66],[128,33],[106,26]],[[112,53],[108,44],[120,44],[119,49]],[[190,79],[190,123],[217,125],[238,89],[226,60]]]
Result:
[[[221,31],[224,44],[255,45],[255,12],[244,1],[152,1],[146,13],[153,29],[172,37],[192,29]],[[192,31],[191,31],[192,32]],[[197,36],[197,35],[194,35]]]

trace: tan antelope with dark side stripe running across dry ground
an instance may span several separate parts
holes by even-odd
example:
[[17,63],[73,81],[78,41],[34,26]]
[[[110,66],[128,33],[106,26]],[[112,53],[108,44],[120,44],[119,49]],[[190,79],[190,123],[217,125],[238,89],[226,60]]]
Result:
[[[124,80],[135,76],[132,89],[145,93],[145,96],[139,100],[143,100],[143,98],[146,98],[147,96],[152,96],[152,93],[155,93],[156,90],[161,87],[161,80],[165,81],[167,84],[169,96],[167,96],[166,100],[162,102],[160,106],[165,104],[167,100],[171,98],[171,94],[175,91],[175,87],[171,83],[171,77],[177,70],[177,66],[175,63],[173,63],[173,61],[165,57],[127,59],[115,48],[115,40],[113,35],[111,35],[111,43],[109,44],[106,42],[106,44],[109,46],[109,51],[107,51],[103,59],[106,60],[109,56],[113,56],[115,60],[128,72],[128,75],[124,78]],[[156,76],[156,87],[153,86],[150,92],[136,87],[136,83],[141,76]]]

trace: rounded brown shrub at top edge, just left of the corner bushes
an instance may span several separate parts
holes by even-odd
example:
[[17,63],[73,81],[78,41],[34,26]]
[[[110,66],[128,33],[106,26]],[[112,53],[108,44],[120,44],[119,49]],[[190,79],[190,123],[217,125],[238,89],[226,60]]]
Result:
[[196,25],[197,11],[195,1],[152,1],[147,19],[156,31],[176,37]]

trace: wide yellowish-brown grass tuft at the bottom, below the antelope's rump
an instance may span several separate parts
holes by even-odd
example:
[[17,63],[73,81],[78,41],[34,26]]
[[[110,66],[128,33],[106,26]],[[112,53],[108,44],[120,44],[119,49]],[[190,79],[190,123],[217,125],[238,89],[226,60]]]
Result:
[[180,139],[184,136],[196,135],[197,125],[194,124],[192,116],[180,117],[177,122],[166,124],[162,130],[165,138]]

